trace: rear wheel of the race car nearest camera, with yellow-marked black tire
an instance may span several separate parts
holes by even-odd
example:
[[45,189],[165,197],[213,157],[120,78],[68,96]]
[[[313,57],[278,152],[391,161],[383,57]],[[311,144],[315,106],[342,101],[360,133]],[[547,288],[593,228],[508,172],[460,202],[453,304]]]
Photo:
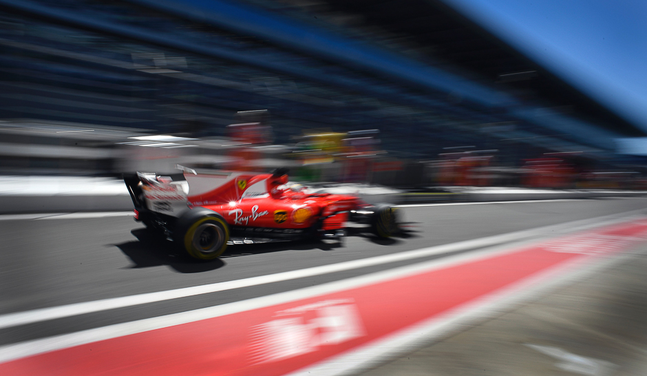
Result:
[[214,260],[227,248],[229,226],[215,211],[191,209],[178,220],[175,240],[192,258]]

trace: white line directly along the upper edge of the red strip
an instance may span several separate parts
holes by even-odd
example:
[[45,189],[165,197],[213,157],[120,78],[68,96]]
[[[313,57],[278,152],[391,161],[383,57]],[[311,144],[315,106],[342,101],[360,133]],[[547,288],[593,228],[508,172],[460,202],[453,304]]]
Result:
[[367,275],[360,275],[359,277],[348,278],[346,280],[339,280],[335,282],[328,282],[326,284],[310,286],[304,289],[297,289],[283,293],[276,293],[273,295],[255,297],[248,300],[242,300],[240,302],[210,306],[193,311],[173,313],[171,315],[151,317],[149,319],[113,324],[109,326],[103,326],[101,328],[87,329],[85,331],[68,333],[64,335],[56,335],[40,340],[31,340],[27,342],[20,342],[18,344],[0,346],[0,363],[9,362],[11,360],[20,359],[22,357],[28,357],[40,353],[56,351],[61,348],[80,346],[92,342],[109,340],[111,338],[123,337],[125,335],[132,335],[145,331],[167,328],[169,326],[187,324],[189,322],[207,320],[214,317],[222,317],[224,315],[232,315],[234,313],[252,311],[255,309],[262,309],[268,306],[294,302],[297,300],[316,297],[319,295],[336,293],[338,291],[357,289],[361,286],[368,286],[370,284],[397,280],[399,278],[404,278],[410,275],[416,275],[437,269],[452,267],[454,265],[463,264],[466,262],[475,262],[477,260],[482,260],[485,258],[496,257],[497,255],[522,251],[520,247],[522,247],[522,244],[509,244],[507,246],[486,248],[477,251],[476,253],[463,253],[460,255],[443,258],[441,260],[430,260],[418,264],[406,265],[404,267],[399,267],[396,269],[389,269],[386,271],[379,271]]

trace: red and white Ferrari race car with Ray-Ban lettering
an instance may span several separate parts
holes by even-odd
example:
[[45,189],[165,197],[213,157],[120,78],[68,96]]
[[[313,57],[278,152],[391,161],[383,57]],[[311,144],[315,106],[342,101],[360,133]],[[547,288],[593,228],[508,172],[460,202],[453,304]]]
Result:
[[399,232],[394,207],[369,205],[357,197],[314,193],[289,185],[286,169],[244,172],[152,173],[124,176],[135,220],[158,230],[193,258],[218,258],[228,244],[308,237],[341,240],[346,222],[363,223],[380,238]]

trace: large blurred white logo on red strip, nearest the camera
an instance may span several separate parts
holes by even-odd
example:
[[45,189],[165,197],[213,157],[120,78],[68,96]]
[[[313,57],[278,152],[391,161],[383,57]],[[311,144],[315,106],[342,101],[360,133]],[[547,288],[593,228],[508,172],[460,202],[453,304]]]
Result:
[[274,316],[276,320],[252,328],[249,355],[253,364],[312,353],[365,335],[352,299],[323,300],[278,311]]

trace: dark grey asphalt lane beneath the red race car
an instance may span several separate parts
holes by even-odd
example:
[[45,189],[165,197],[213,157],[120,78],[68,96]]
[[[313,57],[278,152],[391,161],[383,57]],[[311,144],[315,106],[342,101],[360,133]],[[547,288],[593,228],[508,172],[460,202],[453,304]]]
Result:
[[[207,263],[189,260],[178,254],[172,244],[151,238],[129,216],[0,218],[0,346],[239,302],[469,253],[486,246],[552,236],[587,224],[593,218],[628,211],[647,213],[645,208],[647,198],[404,207],[401,210],[409,231],[403,238],[377,240],[358,229],[342,244],[230,246],[221,260]],[[482,240],[515,231],[526,232]],[[467,240],[476,241],[460,243]],[[411,258],[395,258],[392,262],[359,262],[456,243],[463,245]],[[135,298],[134,302],[117,308],[82,311],[83,302],[114,302],[118,297],[226,284],[350,261],[357,261],[357,265],[304,276],[268,278],[239,288],[180,294],[173,299],[170,295],[162,296],[158,301],[143,304]],[[36,311],[41,313],[34,315],[35,320],[3,325],[3,320],[23,320],[32,310],[69,304],[76,305],[67,306],[60,316],[50,318],[46,312]]]

